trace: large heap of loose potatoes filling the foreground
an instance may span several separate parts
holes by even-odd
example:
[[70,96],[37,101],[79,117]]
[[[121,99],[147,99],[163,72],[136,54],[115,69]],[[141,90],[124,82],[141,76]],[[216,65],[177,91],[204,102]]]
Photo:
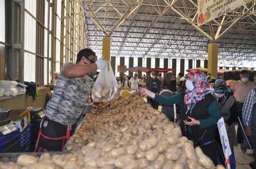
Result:
[[224,169],[137,95],[100,107],[104,113],[89,113],[65,145],[70,154],[21,155],[0,169]]

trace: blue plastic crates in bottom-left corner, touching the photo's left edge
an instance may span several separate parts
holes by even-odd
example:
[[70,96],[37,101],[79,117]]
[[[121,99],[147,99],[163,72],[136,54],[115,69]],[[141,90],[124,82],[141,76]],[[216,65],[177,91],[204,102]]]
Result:
[[20,152],[20,129],[0,136],[0,153]]

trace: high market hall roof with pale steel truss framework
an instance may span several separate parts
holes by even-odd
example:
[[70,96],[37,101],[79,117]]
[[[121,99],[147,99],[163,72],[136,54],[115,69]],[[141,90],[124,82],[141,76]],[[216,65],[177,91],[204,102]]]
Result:
[[256,0],[197,27],[198,0],[79,0],[88,47],[98,56],[111,37],[111,55],[208,59],[218,43],[218,60],[256,60]]

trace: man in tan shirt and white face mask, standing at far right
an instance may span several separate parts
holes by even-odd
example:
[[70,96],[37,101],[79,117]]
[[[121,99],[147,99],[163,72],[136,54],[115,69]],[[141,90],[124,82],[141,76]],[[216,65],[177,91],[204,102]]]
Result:
[[[256,87],[256,85],[253,82],[249,81],[249,72],[246,70],[241,71],[240,78],[241,78],[240,80],[235,81],[233,83],[232,90],[236,98],[236,108],[237,108],[238,117],[242,122],[242,108],[245,103],[245,98],[248,96],[248,93],[250,92],[250,90]],[[240,144],[242,144],[243,142],[242,128],[240,123],[238,123],[238,128],[237,128],[237,142]]]

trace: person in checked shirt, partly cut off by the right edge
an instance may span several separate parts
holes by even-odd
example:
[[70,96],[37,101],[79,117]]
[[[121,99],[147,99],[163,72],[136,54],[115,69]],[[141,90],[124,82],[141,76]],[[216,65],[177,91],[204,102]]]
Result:
[[[242,117],[245,125],[245,134],[251,137],[253,146],[256,145],[256,88],[253,88],[247,98],[242,109]],[[256,169],[256,151],[253,151],[254,161],[250,163],[252,169]]]

